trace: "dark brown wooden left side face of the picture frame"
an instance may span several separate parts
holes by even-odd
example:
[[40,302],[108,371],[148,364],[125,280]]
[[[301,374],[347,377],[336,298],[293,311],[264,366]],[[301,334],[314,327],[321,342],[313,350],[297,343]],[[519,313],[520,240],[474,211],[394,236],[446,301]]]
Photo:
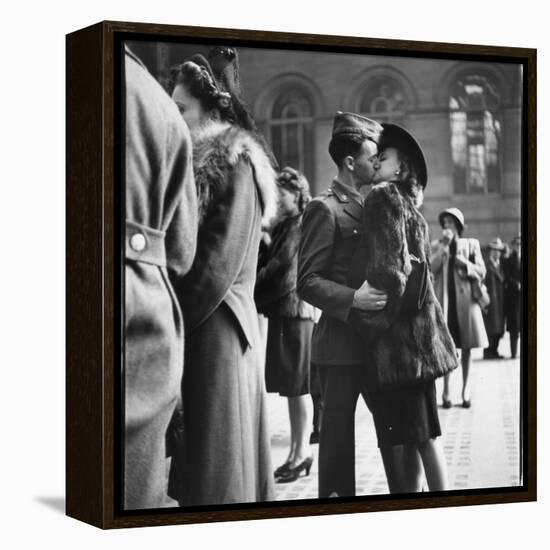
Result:
[[102,26],[67,36],[66,511],[103,517]]

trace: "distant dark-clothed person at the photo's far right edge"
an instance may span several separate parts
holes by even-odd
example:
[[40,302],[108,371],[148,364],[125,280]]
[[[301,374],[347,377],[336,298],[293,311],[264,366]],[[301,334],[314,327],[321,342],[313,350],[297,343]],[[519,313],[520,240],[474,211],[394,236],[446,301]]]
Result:
[[506,330],[510,333],[510,355],[516,357],[518,338],[521,332],[522,316],[522,267],[521,236],[512,241],[512,253],[504,261],[504,302],[506,310]]

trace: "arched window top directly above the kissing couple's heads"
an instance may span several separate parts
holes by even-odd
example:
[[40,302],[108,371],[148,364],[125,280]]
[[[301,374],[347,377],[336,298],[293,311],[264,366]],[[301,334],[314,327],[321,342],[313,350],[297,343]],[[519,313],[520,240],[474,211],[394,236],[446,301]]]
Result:
[[380,122],[402,123],[409,107],[401,83],[387,75],[370,78],[359,100],[359,111]]

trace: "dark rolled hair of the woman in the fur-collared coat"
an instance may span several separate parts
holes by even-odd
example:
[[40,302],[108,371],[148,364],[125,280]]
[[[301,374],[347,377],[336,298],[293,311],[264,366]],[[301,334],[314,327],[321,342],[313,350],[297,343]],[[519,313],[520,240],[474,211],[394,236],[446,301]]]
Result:
[[221,120],[235,122],[231,94],[221,88],[208,69],[193,61],[176,65],[170,70],[170,91],[172,92],[178,84],[186,86],[206,112],[217,110]]

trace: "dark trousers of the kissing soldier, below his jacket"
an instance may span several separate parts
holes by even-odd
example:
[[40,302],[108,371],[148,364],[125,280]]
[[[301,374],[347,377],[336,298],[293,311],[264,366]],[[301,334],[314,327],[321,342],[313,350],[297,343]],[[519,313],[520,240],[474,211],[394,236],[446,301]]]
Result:
[[355,409],[368,405],[363,365],[319,365],[323,420],[319,441],[319,498],[355,495]]

